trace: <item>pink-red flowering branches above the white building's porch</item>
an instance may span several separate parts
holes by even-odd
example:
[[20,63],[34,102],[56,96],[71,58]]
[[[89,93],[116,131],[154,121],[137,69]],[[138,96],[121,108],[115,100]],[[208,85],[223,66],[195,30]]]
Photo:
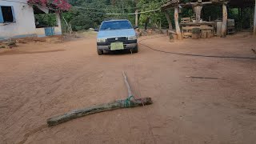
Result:
[[54,11],[66,11],[70,10],[70,3],[66,0],[28,0],[30,5],[44,6]]

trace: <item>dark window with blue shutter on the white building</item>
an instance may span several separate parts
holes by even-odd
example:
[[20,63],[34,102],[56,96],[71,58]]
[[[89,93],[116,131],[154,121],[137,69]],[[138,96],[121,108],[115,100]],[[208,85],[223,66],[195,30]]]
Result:
[[15,22],[13,6],[0,6],[0,23]]

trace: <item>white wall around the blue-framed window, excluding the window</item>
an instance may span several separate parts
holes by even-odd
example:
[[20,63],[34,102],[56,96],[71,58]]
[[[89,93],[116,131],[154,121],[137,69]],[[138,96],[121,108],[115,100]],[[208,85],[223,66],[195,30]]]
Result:
[[0,40],[36,36],[34,10],[26,4],[27,0],[0,1],[0,6],[13,6],[16,22],[0,23]]

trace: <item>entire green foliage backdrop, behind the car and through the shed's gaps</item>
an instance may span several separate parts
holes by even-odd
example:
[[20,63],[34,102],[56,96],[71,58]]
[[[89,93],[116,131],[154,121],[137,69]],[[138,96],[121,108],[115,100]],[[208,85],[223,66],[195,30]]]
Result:
[[[73,30],[87,30],[89,28],[98,27],[102,21],[107,19],[129,19],[134,24],[136,6],[138,6],[138,12],[156,10],[159,9],[163,3],[168,0],[69,0],[73,6],[70,11],[62,13],[62,16],[66,21],[71,24]],[[194,2],[195,0],[181,0],[181,2]],[[124,7],[124,9],[122,9]],[[93,8],[93,9],[86,9]],[[97,10],[94,10],[97,9]],[[99,10],[100,9],[100,10]],[[103,9],[103,10],[102,10]],[[170,19],[174,27],[174,10],[168,10]],[[108,15],[121,14],[121,15]],[[124,14],[122,14],[124,13]],[[127,15],[130,14],[130,15]],[[183,7],[179,18],[191,17],[194,15],[192,7]],[[238,14],[238,9],[232,9],[229,11],[229,18],[234,18],[236,24],[240,27],[250,27],[250,19],[252,17],[251,11],[245,9],[243,11],[243,17]],[[145,25],[147,18],[150,18],[149,27],[159,28],[160,24],[162,28],[168,28],[168,22],[163,11],[158,10],[145,14],[138,14],[139,27]],[[55,25],[55,22],[51,18],[42,18],[37,16],[38,19],[42,19],[42,22],[50,21],[50,26]],[[222,6],[203,6],[202,8],[202,20],[214,21],[216,19],[222,19]],[[63,23],[63,25],[65,25]],[[62,26],[63,26],[62,25]]]

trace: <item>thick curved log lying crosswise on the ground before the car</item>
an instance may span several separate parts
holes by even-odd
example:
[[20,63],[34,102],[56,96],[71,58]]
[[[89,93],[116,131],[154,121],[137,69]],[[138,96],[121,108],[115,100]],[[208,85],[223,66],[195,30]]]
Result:
[[126,99],[118,100],[115,102],[110,102],[110,103],[106,103],[98,106],[91,106],[91,107],[87,107],[79,110],[73,110],[73,111],[70,111],[69,113],[59,115],[54,118],[49,118],[47,119],[47,124],[48,126],[56,126],[63,122],[68,122],[74,118],[80,118],[89,114],[95,114],[95,113],[100,113],[104,111],[117,110],[117,109],[129,108],[129,107],[150,105],[152,103],[153,102],[151,98],[140,98],[140,99],[134,99],[134,101],[130,104],[130,106],[126,106]]

